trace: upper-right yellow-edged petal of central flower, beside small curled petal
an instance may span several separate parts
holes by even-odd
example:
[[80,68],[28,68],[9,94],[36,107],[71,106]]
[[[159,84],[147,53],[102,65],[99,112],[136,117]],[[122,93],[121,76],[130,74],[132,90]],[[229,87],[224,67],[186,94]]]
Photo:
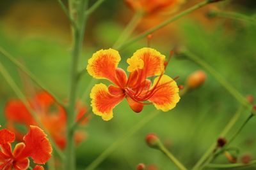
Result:
[[141,74],[143,74],[145,78],[164,73],[165,56],[153,48],[141,48],[137,50],[132,57],[138,57],[143,60],[144,67],[141,70]]

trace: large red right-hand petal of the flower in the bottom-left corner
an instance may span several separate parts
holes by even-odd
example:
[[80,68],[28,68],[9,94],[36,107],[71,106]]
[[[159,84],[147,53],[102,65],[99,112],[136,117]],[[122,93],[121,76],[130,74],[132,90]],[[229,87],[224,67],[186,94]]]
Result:
[[36,164],[45,164],[51,158],[52,146],[42,129],[30,126],[28,134],[24,136],[26,148],[24,154],[28,154]]

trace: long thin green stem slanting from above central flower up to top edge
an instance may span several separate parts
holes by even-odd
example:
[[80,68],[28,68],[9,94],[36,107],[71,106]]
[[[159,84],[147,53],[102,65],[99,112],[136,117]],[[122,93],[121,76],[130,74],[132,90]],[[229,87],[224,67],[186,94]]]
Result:
[[179,18],[183,17],[184,15],[187,15],[188,13],[191,13],[192,11],[195,11],[198,8],[201,8],[202,6],[205,6],[209,3],[211,3],[209,0],[205,0],[205,1],[202,1],[201,3],[195,4],[191,8],[188,8],[188,10],[185,10],[185,11],[173,16],[172,18],[169,18],[168,20],[162,22],[161,24],[157,25],[156,27],[152,27],[151,29],[148,29],[148,31],[142,32],[141,34],[139,34],[138,36],[130,39],[129,41],[127,41],[123,45],[116,46],[116,50],[122,49],[122,48],[124,48],[126,46],[129,46],[132,43],[142,39],[142,38],[145,38],[145,36],[147,36],[148,34],[151,34],[152,32],[157,31],[158,29],[161,29],[161,28],[165,27],[166,25],[170,24],[171,22],[173,22],[175,20],[178,20]]

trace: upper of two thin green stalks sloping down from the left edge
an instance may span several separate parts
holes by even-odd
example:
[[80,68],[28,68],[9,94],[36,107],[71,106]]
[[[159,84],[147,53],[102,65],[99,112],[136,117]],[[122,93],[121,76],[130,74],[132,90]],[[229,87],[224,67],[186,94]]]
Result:
[[1,46],[0,46],[0,53],[3,54],[4,57],[6,57],[6,59],[10,60],[10,62],[12,62],[12,64],[14,64],[15,66],[17,66],[22,72],[24,72],[25,74],[27,74],[29,76],[29,78],[31,78],[32,81],[34,81],[36,83],[36,85],[38,85],[41,89],[49,92],[51,94],[52,97],[54,97],[54,100],[60,104],[61,106],[65,106],[61,99],[59,99],[59,97],[57,97],[56,95],[54,95],[54,93],[51,92],[51,90],[47,89],[43,83],[41,81],[39,81],[36,76],[31,73],[23,64],[21,64],[18,60],[16,60],[12,55],[10,55],[10,53],[6,52],[6,50],[4,50]]

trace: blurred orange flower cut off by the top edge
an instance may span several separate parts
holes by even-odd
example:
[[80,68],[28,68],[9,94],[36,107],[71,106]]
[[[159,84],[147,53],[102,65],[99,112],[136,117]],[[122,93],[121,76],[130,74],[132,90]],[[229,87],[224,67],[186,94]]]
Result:
[[177,6],[184,3],[184,0],[125,0],[125,3],[134,11],[154,14],[163,10],[177,10]]

